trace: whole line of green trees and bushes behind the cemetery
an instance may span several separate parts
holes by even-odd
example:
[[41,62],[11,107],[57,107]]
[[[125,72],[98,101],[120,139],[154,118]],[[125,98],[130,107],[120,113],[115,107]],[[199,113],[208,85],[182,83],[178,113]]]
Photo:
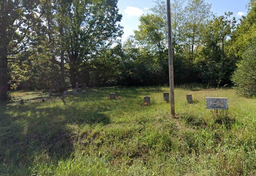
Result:
[[[140,16],[123,44],[117,0],[0,2],[0,99],[8,89],[168,84],[166,2]],[[256,1],[240,19],[204,0],[173,0],[174,83],[234,84],[256,94]]]

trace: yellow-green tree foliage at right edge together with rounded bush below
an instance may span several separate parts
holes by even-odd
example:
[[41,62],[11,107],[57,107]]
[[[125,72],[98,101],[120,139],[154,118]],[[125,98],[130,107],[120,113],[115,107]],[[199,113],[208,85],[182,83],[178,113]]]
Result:
[[255,40],[256,40],[256,2],[251,0],[248,4],[248,14],[243,16],[241,24],[233,33],[230,51],[233,51],[240,61],[237,70],[232,75],[237,93],[250,97],[256,95],[255,87]]

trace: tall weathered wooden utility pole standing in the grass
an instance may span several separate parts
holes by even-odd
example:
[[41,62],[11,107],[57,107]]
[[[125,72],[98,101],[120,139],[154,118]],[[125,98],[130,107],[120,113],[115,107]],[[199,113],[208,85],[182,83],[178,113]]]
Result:
[[169,83],[171,116],[175,116],[174,108],[174,83],[173,83],[173,58],[172,58],[172,23],[170,0],[167,0],[167,25],[168,25],[168,56],[169,56]]

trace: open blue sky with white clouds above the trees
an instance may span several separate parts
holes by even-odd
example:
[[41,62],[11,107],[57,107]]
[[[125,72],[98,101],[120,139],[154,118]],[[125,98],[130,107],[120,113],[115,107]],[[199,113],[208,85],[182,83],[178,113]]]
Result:
[[[247,14],[246,5],[248,0],[205,0],[205,2],[212,4],[211,11],[220,16],[224,15],[224,12],[233,12],[233,16],[237,19],[241,15]],[[129,35],[134,35],[134,30],[138,29],[139,16],[148,12],[148,8],[154,6],[152,0],[119,0],[117,7],[119,8],[119,14],[123,15],[120,22],[124,27],[122,41]]]

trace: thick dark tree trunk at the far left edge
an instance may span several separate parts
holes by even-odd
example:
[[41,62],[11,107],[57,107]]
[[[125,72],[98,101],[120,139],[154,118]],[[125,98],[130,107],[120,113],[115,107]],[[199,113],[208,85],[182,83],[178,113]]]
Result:
[[8,77],[7,77],[7,55],[0,50],[0,100],[7,100]]

